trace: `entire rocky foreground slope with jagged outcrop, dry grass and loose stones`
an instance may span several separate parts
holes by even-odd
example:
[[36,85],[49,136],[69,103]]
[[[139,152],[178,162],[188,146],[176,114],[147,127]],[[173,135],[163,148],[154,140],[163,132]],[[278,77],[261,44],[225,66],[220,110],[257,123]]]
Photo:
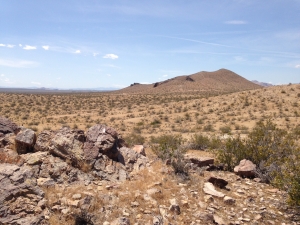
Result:
[[186,180],[142,147],[101,124],[37,135],[0,117],[0,224],[298,224],[251,162],[234,174],[187,154]]

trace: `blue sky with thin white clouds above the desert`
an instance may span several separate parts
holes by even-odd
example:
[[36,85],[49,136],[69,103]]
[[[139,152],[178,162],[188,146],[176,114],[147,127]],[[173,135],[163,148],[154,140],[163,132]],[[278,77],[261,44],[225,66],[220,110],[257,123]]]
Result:
[[300,83],[300,0],[0,0],[0,87],[123,88],[229,69]]

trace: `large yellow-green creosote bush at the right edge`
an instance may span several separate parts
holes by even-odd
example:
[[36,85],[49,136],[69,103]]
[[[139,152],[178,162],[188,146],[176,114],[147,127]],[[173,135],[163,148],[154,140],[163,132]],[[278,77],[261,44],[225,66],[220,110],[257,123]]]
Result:
[[300,147],[297,132],[288,133],[269,119],[259,121],[248,138],[229,138],[217,158],[230,171],[242,159],[257,165],[256,174],[264,182],[286,190],[289,203],[300,205]]

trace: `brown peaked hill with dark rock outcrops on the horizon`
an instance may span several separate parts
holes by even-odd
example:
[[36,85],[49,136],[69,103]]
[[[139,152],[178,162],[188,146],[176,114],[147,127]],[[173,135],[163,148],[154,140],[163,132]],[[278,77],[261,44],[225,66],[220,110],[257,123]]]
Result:
[[214,72],[199,72],[178,76],[154,84],[134,83],[127,88],[116,91],[122,94],[160,94],[179,92],[229,93],[261,88],[236,73],[220,69]]

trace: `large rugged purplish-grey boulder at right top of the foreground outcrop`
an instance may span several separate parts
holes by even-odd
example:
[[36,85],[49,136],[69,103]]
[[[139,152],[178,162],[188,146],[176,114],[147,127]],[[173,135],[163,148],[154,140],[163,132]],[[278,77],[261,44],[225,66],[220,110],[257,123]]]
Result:
[[121,141],[123,142],[115,129],[103,124],[96,124],[87,131],[83,147],[85,159],[92,164],[98,154],[102,153],[117,160]]

